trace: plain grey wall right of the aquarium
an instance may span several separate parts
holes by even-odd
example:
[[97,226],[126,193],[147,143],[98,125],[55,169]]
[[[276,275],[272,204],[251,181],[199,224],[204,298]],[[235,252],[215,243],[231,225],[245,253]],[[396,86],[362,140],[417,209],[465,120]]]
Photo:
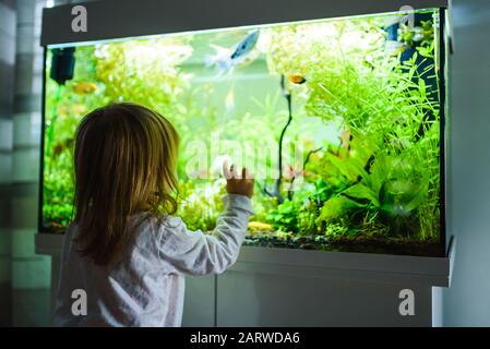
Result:
[[444,325],[490,326],[490,1],[453,0],[449,218],[457,237]]

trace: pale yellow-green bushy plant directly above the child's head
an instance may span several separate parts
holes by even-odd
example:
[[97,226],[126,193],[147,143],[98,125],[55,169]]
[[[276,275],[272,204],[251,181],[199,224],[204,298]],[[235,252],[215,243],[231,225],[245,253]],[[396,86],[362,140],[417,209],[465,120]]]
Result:
[[192,55],[191,39],[167,37],[97,46],[95,77],[111,100],[131,100],[170,113],[191,77],[179,69]]

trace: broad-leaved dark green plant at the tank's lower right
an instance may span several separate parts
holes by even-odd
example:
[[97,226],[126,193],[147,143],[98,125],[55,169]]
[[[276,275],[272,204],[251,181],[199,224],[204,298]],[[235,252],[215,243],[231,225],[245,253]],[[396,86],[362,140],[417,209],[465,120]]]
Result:
[[427,198],[427,181],[414,176],[414,168],[402,159],[378,157],[361,180],[327,200],[319,222],[326,225],[349,218],[351,228],[362,230],[366,222],[382,222],[387,233],[417,236],[418,208]]

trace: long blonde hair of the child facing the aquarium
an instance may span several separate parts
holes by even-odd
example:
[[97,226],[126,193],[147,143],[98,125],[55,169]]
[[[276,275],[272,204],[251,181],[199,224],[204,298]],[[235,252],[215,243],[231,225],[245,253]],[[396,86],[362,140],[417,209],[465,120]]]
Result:
[[74,222],[82,255],[109,264],[133,236],[130,216],[177,210],[178,143],[171,123],[140,105],[110,104],[83,118],[74,149]]

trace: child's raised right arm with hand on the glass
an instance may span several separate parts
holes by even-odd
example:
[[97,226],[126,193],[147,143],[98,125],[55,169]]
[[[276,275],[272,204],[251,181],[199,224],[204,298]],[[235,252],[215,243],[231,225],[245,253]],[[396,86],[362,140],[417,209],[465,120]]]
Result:
[[241,177],[227,169],[224,197],[225,212],[219,216],[213,236],[202,231],[189,231],[180,219],[163,226],[158,242],[158,254],[171,269],[191,275],[223,273],[238,257],[240,245],[253,214],[250,197],[253,194],[253,179],[242,170]]

